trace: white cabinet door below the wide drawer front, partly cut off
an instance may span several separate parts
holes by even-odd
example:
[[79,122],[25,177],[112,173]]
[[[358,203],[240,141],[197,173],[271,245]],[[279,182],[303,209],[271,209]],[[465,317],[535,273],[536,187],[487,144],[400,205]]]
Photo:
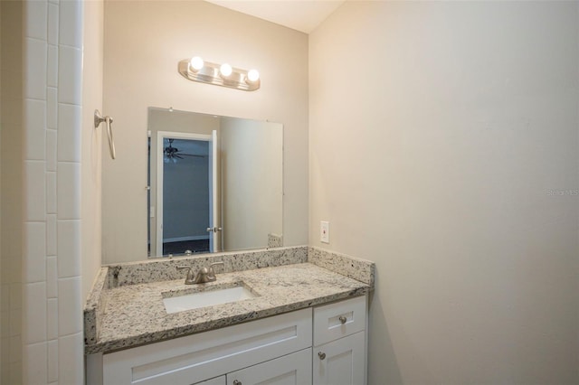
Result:
[[311,349],[227,374],[227,385],[311,384]]

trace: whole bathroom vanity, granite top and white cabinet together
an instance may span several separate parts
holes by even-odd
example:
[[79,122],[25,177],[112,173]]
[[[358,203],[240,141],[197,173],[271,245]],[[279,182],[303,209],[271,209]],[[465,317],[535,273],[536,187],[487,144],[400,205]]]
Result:
[[[172,260],[154,281],[138,264],[103,268],[85,310],[87,383],[365,383],[374,264],[319,249],[276,252],[243,258],[265,268],[242,269],[231,253],[177,259],[223,261],[216,281],[197,286],[163,279]],[[164,303],[241,286],[253,296],[175,313]]]

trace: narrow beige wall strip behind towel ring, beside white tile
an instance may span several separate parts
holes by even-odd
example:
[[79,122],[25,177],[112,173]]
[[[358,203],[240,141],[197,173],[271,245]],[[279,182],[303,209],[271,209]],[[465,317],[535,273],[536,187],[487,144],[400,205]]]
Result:
[[94,128],[94,110],[102,112],[103,2],[84,4],[82,66],[82,298],[86,298],[100,268],[101,158],[104,126]]

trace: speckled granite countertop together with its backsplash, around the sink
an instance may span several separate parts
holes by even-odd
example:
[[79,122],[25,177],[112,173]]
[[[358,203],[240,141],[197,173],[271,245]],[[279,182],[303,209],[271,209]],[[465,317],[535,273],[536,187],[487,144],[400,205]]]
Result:
[[[184,285],[184,273],[223,261],[217,281]],[[363,296],[374,287],[374,263],[324,249],[294,247],[196,257],[159,258],[100,269],[84,309],[85,352],[112,352],[200,333],[312,305]],[[167,314],[163,298],[247,286],[258,296]]]

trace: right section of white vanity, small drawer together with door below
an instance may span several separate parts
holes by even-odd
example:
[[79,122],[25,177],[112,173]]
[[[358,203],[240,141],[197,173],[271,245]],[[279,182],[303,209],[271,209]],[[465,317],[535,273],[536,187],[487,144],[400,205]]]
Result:
[[314,385],[365,383],[365,296],[314,308]]

